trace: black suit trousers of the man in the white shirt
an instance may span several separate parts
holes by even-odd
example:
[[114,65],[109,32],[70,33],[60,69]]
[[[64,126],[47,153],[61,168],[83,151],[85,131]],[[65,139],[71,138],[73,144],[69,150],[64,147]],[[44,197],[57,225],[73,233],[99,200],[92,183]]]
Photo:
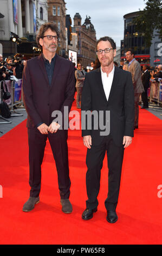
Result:
[[[93,143],[93,141],[92,141]],[[98,194],[100,190],[100,176],[103,159],[107,151],[108,163],[108,194],[105,200],[106,210],[115,211],[118,203],[122,160],[124,157],[124,145],[115,145],[111,135],[105,136],[100,145],[93,145],[87,150],[86,164],[86,187],[88,209],[95,209],[98,206]]]

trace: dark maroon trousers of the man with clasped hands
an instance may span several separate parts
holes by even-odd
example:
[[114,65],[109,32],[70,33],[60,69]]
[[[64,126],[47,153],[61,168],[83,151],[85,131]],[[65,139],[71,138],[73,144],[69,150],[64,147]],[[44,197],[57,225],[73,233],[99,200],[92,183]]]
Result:
[[[30,197],[38,197],[41,190],[41,164],[44,156],[47,138],[56,163],[61,199],[70,195],[70,178],[68,165],[67,136],[64,130],[42,135],[37,128],[28,128],[29,144],[29,185]],[[47,170],[48,171],[48,170]]]

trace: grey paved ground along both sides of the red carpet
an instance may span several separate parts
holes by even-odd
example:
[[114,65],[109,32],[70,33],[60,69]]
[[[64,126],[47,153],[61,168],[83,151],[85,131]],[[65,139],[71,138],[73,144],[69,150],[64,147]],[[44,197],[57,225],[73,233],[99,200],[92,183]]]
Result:
[[[19,111],[18,109],[23,109],[23,111]],[[10,131],[12,128],[14,128],[16,125],[20,124],[23,120],[27,118],[27,112],[24,110],[24,108],[18,108],[16,109],[16,113],[11,112],[12,115],[15,114],[21,114],[19,116],[12,116],[11,118],[8,118],[7,120],[11,121],[11,124],[1,124],[1,122],[5,121],[0,118],[0,137],[2,137],[5,133]],[[149,108],[147,111],[154,114],[156,117],[160,118],[162,120],[162,107],[158,107],[155,104],[149,104]]]

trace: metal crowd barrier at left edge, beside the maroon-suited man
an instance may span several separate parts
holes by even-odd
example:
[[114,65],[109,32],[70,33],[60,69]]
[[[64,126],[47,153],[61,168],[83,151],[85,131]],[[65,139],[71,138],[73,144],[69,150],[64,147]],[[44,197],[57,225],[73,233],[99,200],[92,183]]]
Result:
[[[5,100],[5,102],[8,104],[10,112],[11,112],[11,117],[21,117],[23,114],[17,113],[17,111],[25,111],[25,107],[23,105],[23,98],[22,98],[22,79],[19,79],[17,82],[16,81],[11,81],[11,80],[5,80],[1,81],[0,84],[3,84],[4,91],[5,89],[5,84],[7,85],[8,91],[11,94],[10,99]],[[3,100],[3,91],[1,90],[1,102]],[[0,102],[0,103],[1,103]],[[16,108],[16,111],[15,111]],[[18,109],[21,108],[21,109]],[[8,119],[2,117],[0,115],[1,119],[4,119],[5,122],[0,122],[0,124],[9,124],[12,123]]]

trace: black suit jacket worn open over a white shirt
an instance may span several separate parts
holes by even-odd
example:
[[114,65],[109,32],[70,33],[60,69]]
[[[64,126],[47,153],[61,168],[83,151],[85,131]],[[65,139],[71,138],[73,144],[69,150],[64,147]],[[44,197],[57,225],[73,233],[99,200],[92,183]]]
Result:
[[[81,108],[82,111],[110,111],[110,134],[116,145],[122,145],[123,136],[133,137],[134,130],[134,90],[131,73],[115,66],[108,101],[102,85],[100,68],[87,73],[82,90]],[[104,137],[100,136],[100,131],[102,130],[88,130],[86,127],[86,130],[82,130],[82,136],[91,135],[92,144],[98,145]]]

